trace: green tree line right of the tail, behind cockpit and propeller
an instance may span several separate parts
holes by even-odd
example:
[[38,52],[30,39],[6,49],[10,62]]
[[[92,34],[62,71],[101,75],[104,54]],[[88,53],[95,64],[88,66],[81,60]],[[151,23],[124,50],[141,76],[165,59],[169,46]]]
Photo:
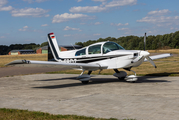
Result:
[[[126,37],[107,37],[98,40],[88,40],[86,42],[77,42],[76,45],[88,46],[96,42],[113,41],[121,45],[126,50],[143,50],[144,36],[126,36]],[[150,35],[146,37],[146,50],[156,49],[179,49],[179,31],[164,35]]]

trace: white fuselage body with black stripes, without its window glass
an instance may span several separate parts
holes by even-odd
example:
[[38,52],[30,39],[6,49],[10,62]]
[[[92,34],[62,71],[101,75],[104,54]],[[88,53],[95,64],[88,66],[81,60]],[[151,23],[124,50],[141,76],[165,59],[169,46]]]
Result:
[[[114,50],[108,53],[103,53],[102,47],[106,42],[101,42],[93,45],[101,44],[101,52],[98,54],[89,54],[89,47],[85,49],[85,55],[75,56],[75,54],[82,50],[71,50],[60,52],[60,58],[65,63],[88,63],[99,64],[101,66],[108,66],[107,69],[129,68],[137,67],[144,61],[141,58],[141,50]],[[92,45],[91,45],[92,46]],[[135,61],[136,60],[136,61]],[[133,62],[134,61],[134,62]]]

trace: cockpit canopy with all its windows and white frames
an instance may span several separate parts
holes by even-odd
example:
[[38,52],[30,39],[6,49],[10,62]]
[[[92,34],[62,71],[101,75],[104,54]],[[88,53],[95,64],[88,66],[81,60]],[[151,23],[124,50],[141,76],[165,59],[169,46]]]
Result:
[[81,50],[78,50],[75,54],[75,56],[81,56],[81,55],[92,55],[92,54],[106,54],[111,51],[115,50],[124,50],[123,47],[118,45],[115,42],[103,42],[101,44],[94,44],[87,48],[83,48]]

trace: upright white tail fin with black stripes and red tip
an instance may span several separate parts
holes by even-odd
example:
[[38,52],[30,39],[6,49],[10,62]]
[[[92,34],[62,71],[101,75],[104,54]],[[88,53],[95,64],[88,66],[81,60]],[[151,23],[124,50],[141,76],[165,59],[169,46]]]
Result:
[[55,38],[54,33],[49,33],[47,35],[47,38],[48,38],[48,44],[49,44],[50,50],[52,52],[52,55],[53,55],[55,61],[59,61],[61,59],[60,58],[60,50],[59,50],[57,40]]

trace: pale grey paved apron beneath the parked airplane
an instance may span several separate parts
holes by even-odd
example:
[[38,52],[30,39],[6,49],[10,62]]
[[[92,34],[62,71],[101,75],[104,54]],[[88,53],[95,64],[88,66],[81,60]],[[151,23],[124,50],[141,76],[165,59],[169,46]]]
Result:
[[0,108],[137,120],[179,119],[179,77],[140,77],[136,83],[97,75],[84,85],[74,74],[0,78]]

